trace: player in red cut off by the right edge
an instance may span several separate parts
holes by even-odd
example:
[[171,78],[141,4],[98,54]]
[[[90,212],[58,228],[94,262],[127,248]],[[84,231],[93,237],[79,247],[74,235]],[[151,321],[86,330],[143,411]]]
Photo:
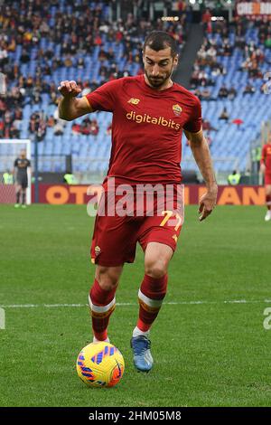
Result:
[[271,133],[268,134],[267,143],[263,146],[260,161],[260,171],[265,175],[266,187],[266,222],[271,220]]

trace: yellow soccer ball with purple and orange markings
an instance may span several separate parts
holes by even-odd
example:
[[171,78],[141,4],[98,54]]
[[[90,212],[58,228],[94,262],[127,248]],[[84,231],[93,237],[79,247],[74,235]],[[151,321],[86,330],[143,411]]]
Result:
[[116,346],[98,342],[80,351],[76,369],[79,378],[90,387],[113,387],[124,373],[125,362]]

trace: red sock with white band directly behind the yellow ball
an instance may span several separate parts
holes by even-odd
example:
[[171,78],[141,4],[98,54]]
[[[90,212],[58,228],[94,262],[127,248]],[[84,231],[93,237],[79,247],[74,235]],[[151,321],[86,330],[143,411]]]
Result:
[[98,280],[94,280],[89,292],[89,307],[92,318],[92,329],[98,341],[107,339],[107,326],[109,318],[116,307],[116,288],[109,291],[101,288]]

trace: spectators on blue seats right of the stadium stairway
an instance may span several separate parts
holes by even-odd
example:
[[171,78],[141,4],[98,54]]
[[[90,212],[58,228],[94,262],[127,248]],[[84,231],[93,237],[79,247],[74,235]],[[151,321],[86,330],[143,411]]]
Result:
[[[233,116],[228,100],[233,103],[240,93],[245,97],[256,97],[258,93],[264,92],[266,81],[263,70],[271,63],[270,57],[268,59],[266,55],[266,48],[271,46],[268,42],[271,40],[271,22],[266,18],[251,22],[238,15],[230,23],[222,19],[211,20],[211,12],[207,10],[202,14],[201,23],[204,38],[192,69],[192,90],[203,102],[214,100],[218,105],[221,105],[221,101],[225,102],[220,106],[218,117],[210,118],[208,125],[203,122],[206,137],[211,144],[211,132],[217,130],[214,127],[223,128],[224,124],[229,123],[243,128],[244,120]],[[253,39],[248,38],[252,29],[257,31],[257,36]],[[241,57],[240,61],[237,54]],[[232,76],[233,62],[230,58],[233,55],[233,61],[239,64],[234,78],[227,78],[228,72]],[[245,76],[245,80],[242,76]],[[211,122],[212,119],[215,125]]]

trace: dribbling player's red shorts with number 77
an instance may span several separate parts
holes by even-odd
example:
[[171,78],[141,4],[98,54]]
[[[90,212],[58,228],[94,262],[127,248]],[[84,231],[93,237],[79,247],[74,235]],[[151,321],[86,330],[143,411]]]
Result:
[[[120,199],[121,196],[116,196],[115,207]],[[135,203],[133,207],[127,208],[129,213],[123,216],[119,213],[112,216],[98,213],[90,250],[91,261],[106,267],[134,262],[137,242],[144,251],[149,242],[164,243],[174,251],[183,222],[183,185],[179,184],[178,191],[174,190],[172,199],[174,207],[171,210],[162,208],[160,213],[156,211],[157,199],[154,199],[154,213],[151,214],[146,205],[144,211],[141,211],[142,215],[136,214]],[[104,200],[106,209],[109,203],[107,199]],[[168,206],[168,203],[164,205]]]

